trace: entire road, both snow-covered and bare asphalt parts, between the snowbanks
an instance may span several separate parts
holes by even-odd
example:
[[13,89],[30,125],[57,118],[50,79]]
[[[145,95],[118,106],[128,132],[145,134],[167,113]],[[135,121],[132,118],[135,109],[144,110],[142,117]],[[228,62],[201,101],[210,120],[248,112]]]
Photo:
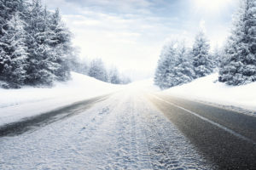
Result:
[[0,169],[256,169],[256,117],[125,90],[0,127]]

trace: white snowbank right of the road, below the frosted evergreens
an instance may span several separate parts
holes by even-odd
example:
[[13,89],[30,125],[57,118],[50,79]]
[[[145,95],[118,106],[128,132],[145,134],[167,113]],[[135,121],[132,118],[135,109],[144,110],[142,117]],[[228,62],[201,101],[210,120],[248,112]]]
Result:
[[254,112],[255,115],[256,82],[234,87],[217,80],[218,74],[215,73],[182,86],[169,88],[164,93],[186,99],[196,99],[230,109],[242,108]]

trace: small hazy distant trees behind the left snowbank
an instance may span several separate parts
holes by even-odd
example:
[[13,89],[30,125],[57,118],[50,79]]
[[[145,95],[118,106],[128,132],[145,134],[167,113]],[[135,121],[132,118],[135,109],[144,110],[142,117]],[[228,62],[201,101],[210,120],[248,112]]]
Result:
[[120,74],[116,67],[107,69],[102,59],[73,59],[70,63],[72,71],[94,77],[102,82],[110,82],[113,84],[127,84],[131,82],[129,77]]

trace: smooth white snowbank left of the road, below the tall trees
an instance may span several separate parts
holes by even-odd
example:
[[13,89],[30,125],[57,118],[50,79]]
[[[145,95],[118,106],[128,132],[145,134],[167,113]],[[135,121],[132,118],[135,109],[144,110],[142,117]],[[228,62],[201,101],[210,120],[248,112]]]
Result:
[[120,88],[121,85],[101,82],[75,72],[72,72],[70,81],[55,82],[53,88],[0,88],[0,126],[83,99],[109,94]]

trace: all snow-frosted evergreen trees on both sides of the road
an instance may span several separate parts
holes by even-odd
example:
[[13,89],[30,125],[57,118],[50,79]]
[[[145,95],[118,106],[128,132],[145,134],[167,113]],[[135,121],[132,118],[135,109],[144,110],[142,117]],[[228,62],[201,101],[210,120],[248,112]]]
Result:
[[[176,40],[164,46],[154,83],[171,88],[218,71],[218,81],[228,85],[256,82],[256,3],[241,0],[239,10],[223,48],[210,52],[203,31],[192,47]],[[78,58],[72,34],[61,21],[58,9],[44,7],[40,0],[0,0],[0,87],[51,86],[67,81],[70,71],[104,82],[125,84],[128,77],[102,59],[90,62]]]

